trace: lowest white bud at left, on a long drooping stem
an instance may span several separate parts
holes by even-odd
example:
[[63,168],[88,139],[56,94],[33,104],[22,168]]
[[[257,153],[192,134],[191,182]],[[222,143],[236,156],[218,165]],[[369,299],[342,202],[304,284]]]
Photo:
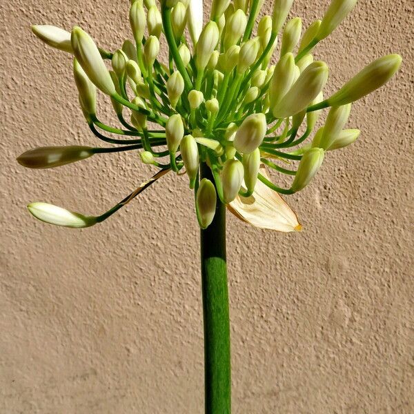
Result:
[[55,226],[83,228],[97,224],[97,217],[87,217],[53,204],[30,203],[28,210],[37,219]]

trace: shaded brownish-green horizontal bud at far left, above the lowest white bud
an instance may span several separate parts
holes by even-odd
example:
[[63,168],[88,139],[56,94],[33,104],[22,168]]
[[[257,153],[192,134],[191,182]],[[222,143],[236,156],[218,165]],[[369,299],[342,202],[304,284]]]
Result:
[[88,146],[39,147],[23,152],[17,162],[26,168],[55,168],[92,157],[94,153]]

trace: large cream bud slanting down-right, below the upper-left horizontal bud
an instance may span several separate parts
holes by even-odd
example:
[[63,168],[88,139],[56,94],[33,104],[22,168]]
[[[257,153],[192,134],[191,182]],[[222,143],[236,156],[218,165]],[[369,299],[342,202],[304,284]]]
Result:
[[106,95],[115,95],[116,90],[109,71],[89,34],[75,26],[72,29],[71,41],[75,57],[92,83]]

